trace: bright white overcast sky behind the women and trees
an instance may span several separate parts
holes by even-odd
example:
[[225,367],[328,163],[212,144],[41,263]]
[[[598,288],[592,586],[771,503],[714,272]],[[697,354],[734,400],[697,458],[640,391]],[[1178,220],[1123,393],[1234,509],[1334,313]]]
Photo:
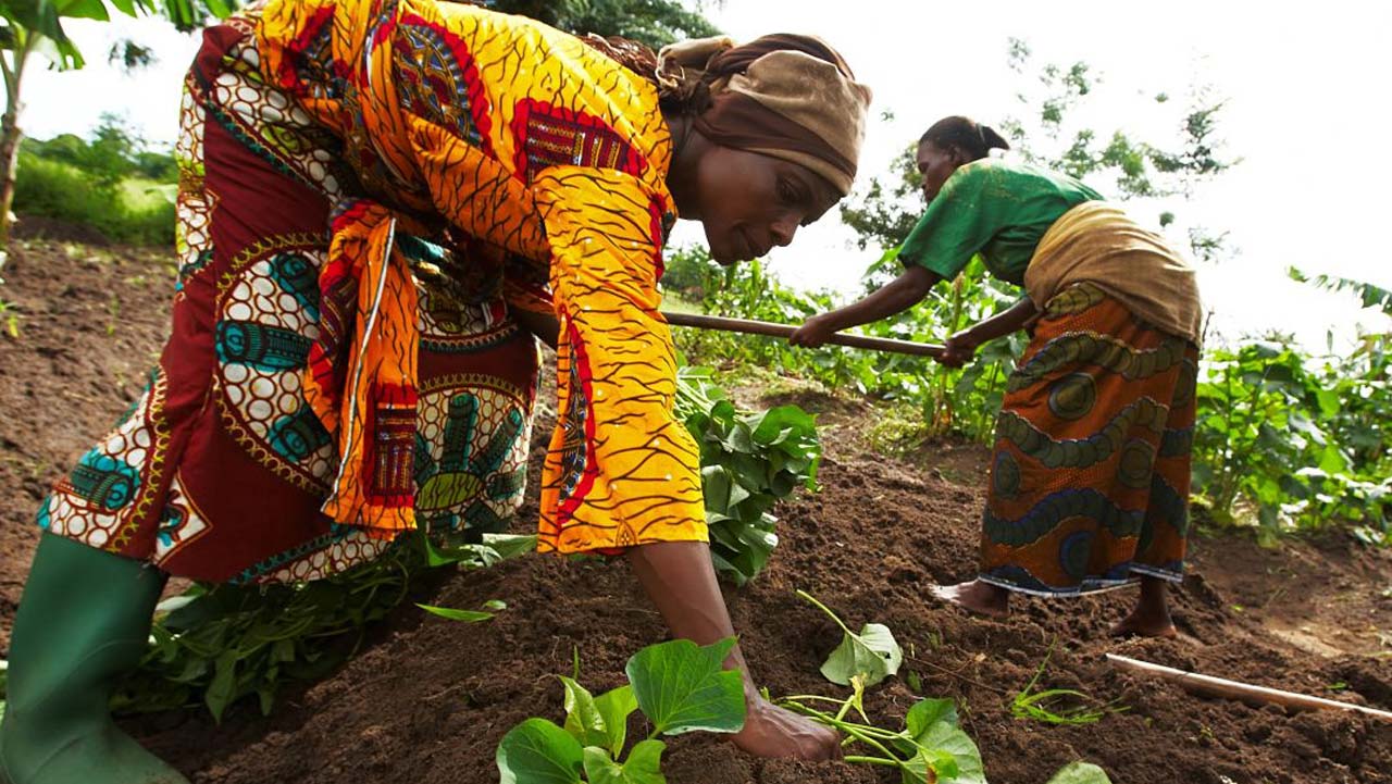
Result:
[[[1392,3],[727,0],[707,15],[736,40],[812,32],[842,52],[876,91],[863,178],[883,174],[938,117],[995,124],[1018,114],[1015,95],[1029,81],[1006,67],[1012,36],[1030,45],[1036,63],[1093,67],[1102,86],[1082,120],[1102,134],[1172,139],[1186,91],[1208,85],[1228,100],[1221,135],[1243,163],[1176,212],[1228,231],[1237,251],[1203,269],[1215,327],[1232,337],[1279,327],[1322,343],[1331,324],[1386,323],[1347,298],[1286,281],[1283,270],[1295,265],[1392,288],[1392,249],[1382,241],[1392,212],[1384,141],[1392,128]],[[118,111],[148,138],[173,141],[196,38],[155,21],[70,26],[90,64],[26,79],[26,132],[86,131],[102,111]],[[120,35],[155,45],[160,63],[135,77],[107,67],[106,50]],[[1172,96],[1168,110],[1151,100],[1158,92]],[[880,118],[885,110],[895,120]],[[1137,217],[1154,214],[1137,207]],[[699,238],[695,224],[678,234]],[[851,291],[877,255],[853,249],[832,214],[775,251],[773,266],[796,285]]]

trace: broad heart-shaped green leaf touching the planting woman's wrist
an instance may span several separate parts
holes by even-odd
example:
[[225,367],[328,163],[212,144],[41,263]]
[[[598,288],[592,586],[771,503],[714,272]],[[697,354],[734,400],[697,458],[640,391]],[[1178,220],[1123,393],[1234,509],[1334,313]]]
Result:
[[745,726],[743,681],[724,661],[735,639],[697,646],[689,639],[650,645],[628,660],[628,680],[653,734],[738,732]]

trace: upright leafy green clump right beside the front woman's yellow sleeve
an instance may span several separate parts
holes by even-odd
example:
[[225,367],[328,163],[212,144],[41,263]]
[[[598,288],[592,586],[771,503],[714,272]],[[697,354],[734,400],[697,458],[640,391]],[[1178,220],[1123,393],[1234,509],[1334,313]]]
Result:
[[742,412],[710,377],[702,368],[679,370],[677,416],[700,447],[711,558],[720,574],[743,585],[778,546],[773,505],[798,486],[816,487],[817,425],[796,405]]

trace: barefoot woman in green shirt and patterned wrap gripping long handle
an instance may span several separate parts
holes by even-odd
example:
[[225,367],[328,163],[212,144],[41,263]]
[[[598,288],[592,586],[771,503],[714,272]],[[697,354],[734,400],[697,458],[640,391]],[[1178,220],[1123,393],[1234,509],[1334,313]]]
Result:
[[988,157],[1009,145],[966,117],[919,142],[928,207],[899,251],[905,272],[792,337],[892,316],[980,255],[1022,285],[1009,309],[947,341],[962,366],[983,343],[1027,329],[1030,344],[997,422],[981,564],[935,593],[1004,616],[1012,592],[1073,596],[1139,582],[1114,631],[1171,635],[1166,582],[1179,582],[1187,532],[1200,313],[1193,269],[1077,180]]

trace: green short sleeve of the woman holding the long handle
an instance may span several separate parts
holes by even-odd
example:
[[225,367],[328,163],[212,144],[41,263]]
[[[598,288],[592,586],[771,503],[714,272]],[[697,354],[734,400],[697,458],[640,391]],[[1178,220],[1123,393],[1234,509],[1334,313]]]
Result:
[[942,184],[899,249],[899,262],[955,279],[1002,228],[987,199],[988,168],[965,166]]

